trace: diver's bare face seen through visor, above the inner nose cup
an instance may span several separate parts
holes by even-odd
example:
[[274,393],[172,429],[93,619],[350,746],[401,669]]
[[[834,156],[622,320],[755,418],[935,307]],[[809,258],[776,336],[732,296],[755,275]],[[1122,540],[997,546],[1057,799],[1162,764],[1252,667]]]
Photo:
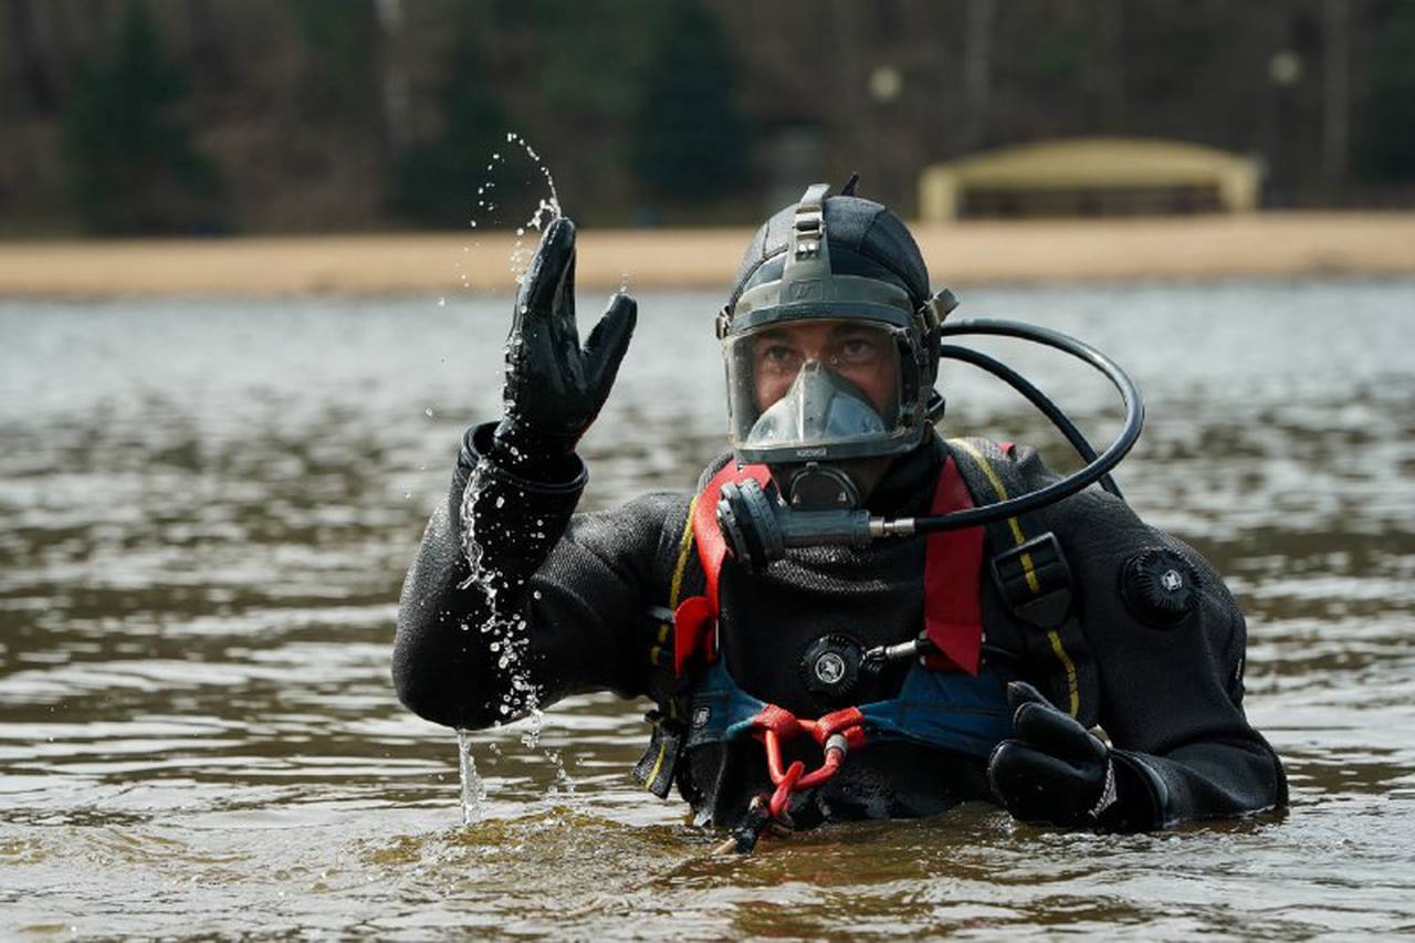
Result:
[[855,321],[797,321],[763,331],[751,351],[757,411],[766,412],[815,361],[860,388],[880,415],[894,408],[899,358],[890,336]]

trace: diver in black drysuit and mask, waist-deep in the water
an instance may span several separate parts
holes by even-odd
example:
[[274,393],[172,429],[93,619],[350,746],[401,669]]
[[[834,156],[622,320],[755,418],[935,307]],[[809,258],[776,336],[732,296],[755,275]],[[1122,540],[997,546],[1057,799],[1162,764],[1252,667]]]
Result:
[[[576,443],[637,309],[614,296],[582,347],[574,228],[549,225],[505,415],[467,432],[403,585],[403,704],[477,729],[576,692],[647,695],[635,775],[659,796],[676,782],[739,850],[770,824],[965,800],[1119,831],[1285,806],[1218,575],[1102,488],[1007,511],[1057,476],[1030,447],[935,432],[955,302],[853,188],[811,187],[747,249],[716,320],[732,455],[693,496],[590,514]],[[981,522],[928,531],[948,514]]]

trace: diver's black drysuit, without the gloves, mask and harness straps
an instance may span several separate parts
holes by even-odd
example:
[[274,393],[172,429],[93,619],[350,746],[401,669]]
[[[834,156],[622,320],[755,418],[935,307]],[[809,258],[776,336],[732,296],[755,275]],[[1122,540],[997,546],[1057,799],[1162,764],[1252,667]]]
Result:
[[[574,514],[583,464],[572,456],[545,470],[550,480],[516,477],[485,457],[491,430],[468,432],[447,501],[403,585],[393,653],[403,704],[437,724],[484,728],[584,691],[665,702],[675,692],[672,640],[665,644],[662,619],[651,613],[669,602],[689,496],[648,494],[617,510]],[[869,510],[927,514],[948,449],[931,436],[896,460]],[[992,455],[1010,463],[1006,471],[1023,490],[1054,480],[1030,449]],[[969,490],[978,504],[998,500],[972,483]],[[481,554],[471,582],[461,522],[468,513]],[[1037,520],[1056,534],[1073,573],[1085,648],[1073,654],[1092,665],[1082,673],[1081,719],[1098,722],[1115,748],[1119,801],[1101,824],[1156,828],[1283,806],[1282,766],[1242,712],[1244,619],[1213,569],[1095,488]],[[989,528],[985,561],[998,549],[996,534]],[[1122,600],[1126,565],[1153,548],[1180,554],[1197,578],[1197,602],[1179,624]],[[703,588],[696,554],[688,561],[679,598]],[[923,539],[790,551],[760,575],[729,556],[719,629],[726,667],[749,694],[799,716],[845,707],[805,687],[802,651],[828,633],[866,647],[916,637],[923,573]],[[1019,622],[986,566],[981,605],[985,665],[1047,690],[1054,665],[1023,644],[1034,629]],[[850,702],[893,695],[903,671],[867,680]],[[814,767],[819,756],[812,762],[807,745],[801,749]],[[726,825],[753,796],[770,791],[761,746],[751,739],[691,750],[678,783],[699,821]],[[981,760],[882,743],[852,752],[835,779],[799,797],[792,817],[798,824],[908,817],[966,799],[990,799]]]

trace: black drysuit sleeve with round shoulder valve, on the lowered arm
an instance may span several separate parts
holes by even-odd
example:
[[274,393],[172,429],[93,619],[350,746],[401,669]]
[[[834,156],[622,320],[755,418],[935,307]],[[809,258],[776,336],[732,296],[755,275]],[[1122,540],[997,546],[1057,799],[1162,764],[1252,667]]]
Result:
[[[1146,830],[1285,806],[1282,763],[1242,709],[1244,617],[1213,566],[1094,488],[1057,505],[1053,527],[1097,663],[1122,800],[1112,823]],[[1193,598],[1166,607],[1146,589],[1156,579]]]

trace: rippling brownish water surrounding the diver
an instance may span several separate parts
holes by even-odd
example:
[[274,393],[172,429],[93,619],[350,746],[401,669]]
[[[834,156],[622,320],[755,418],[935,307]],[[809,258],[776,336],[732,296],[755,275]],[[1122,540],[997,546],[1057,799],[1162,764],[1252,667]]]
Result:
[[[1249,613],[1285,816],[1063,834],[988,806],[708,855],[628,777],[644,704],[456,738],[388,680],[395,600],[507,299],[0,303],[0,937],[1415,930],[1415,283],[988,289],[1115,355],[1118,479]],[[584,299],[597,307],[601,299]],[[682,488],[723,435],[717,299],[642,299],[586,505]],[[1104,381],[1024,367],[1094,438]],[[1056,435],[966,367],[951,432]]]

